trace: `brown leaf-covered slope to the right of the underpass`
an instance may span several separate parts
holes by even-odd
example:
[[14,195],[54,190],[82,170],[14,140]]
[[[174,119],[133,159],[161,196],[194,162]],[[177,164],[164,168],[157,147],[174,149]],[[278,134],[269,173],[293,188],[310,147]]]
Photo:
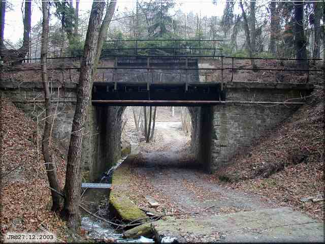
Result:
[[268,196],[280,204],[322,218],[323,203],[303,203],[302,197],[320,197],[324,191],[324,88],[317,86],[303,105],[272,134],[260,138],[231,166],[212,178],[233,187]]

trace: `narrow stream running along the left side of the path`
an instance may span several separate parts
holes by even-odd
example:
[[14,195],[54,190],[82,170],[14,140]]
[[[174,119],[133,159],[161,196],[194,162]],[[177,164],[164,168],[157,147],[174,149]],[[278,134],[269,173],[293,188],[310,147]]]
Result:
[[[102,183],[111,182],[114,170],[126,159],[123,157],[115,166],[103,173]],[[109,217],[109,190],[108,189],[85,189],[82,195],[82,203],[95,215],[110,220]],[[154,243],[153,239],[141,236],[140,238],[123,238],[121,231],[115,231],[114,226],[99,220],[85,211],[81,211],[81,228],[86,231],[87,239],[108,240],[114,242]]]

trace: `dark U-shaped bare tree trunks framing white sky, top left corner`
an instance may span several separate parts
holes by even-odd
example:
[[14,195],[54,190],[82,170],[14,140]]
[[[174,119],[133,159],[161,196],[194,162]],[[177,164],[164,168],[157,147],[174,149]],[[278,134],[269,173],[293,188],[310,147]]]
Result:
[[4,62],[10,62],[12,64],[20,64],[22,59],[26,56],[29,45],[30,45],[30,25],[31,25],[31,2],[25,1],[25,11],[23,17],[24,25],[24,36],[23,42],[19,49],[7,49],[4,43],[4,33],[5,33],[5,16],[6,16],[6,1],[0,1],[0,56]]

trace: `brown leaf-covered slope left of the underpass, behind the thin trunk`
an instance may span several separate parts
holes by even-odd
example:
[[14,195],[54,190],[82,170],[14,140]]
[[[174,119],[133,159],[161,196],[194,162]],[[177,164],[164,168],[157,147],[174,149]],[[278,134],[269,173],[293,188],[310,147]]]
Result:
[[[47,223],[56,232],[63,223],[50,211],[51,199],[41,150],[41,127],[0,96],[1,233],[35,232]],[[38,141],[39,132],[39,141]],[[66,165],[57,157],[62,187]],[[45,221],[45,222],[44,222]],[[46,226],[46,225],[45,225]]]

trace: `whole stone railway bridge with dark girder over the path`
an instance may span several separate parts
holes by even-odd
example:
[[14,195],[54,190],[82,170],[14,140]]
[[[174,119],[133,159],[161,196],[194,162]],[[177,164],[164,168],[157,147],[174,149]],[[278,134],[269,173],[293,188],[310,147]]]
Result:
[[[56,67],[53,62],[51,65],[49,67]],[[77,71],[73,73],[74,71],[71,70],[77,70],[78,66],[78,60],[74,62],[70,60],[70,63],[66,60],[64,67],[61,67],[62,71],[52,69],[52,78],[49,81],[52,109],[56,114],[53,135],[66,145],[66,148],[71,134],[78,80],[75,74]],[[67,69],[67,67],[72,68]],[[29,76],[28,72],[30,72]],[[39,78],[40,72],[30,70],[28,72],[25,71],[24,76],[3,76],[0,88],[31,117],[42,117],[44,94]],[[198,168],[212,172],[230,163],[232,157],[250,146],[254,139],[272,130],[289,117],[303,104],[300,98],[310,94],[313,89],[312,85],[302,83],[223,80],[222,72],[220,60],[215,58],[101,59],[98,74],[94,79],[94,84],[99,88],[93,89],[93,101],[83,133],[83,163],[85,167],[90,168],[90,178],[92,180],[98,178],[120,157],[121,116],[125,106],[188,106],[192,120],[192,153],[197,159]],[[192,86],[193,89],[198,89],[200,96],[178,101],[179,103],[176,97],[167,97],[165,99],[167,103],[161,104],[142,97],[135,104],[123,103],[126,99],[122,97],[120,106],[113,106],[116,104],[110,104],[107,100],[107,103],[105,101],[99,103],[94,99],[99,90],[103,92],[104,89],[105,95],[105,92],[109,92],[110,89],[118,91],[118,85],[128,83],[136,86],[147,84],[144,93],[148,93],[149,86],[156,84],[166,86],[178,84],[178,91],[183,93],[187,92],[188,86]],[[197,87],[200,85],[206,86],[199,90]],[[209,88],[210,86],[217,88],[213,90]],[[140,85],[133,90],[136,90],[136,93],[128,99],[136,99],[133,96],[142,92]],[[124,89],[124,93],[127,91],[129,88]],[[173,92],[172,89],[168,91]],[[168,91],[165,90],[166,94]],[[193,94],[196,94],[195,90]],[[202,102],[204,96],[209,97],[209,100]],[[283,103],[291,99],[295,99],[293,103]]]

